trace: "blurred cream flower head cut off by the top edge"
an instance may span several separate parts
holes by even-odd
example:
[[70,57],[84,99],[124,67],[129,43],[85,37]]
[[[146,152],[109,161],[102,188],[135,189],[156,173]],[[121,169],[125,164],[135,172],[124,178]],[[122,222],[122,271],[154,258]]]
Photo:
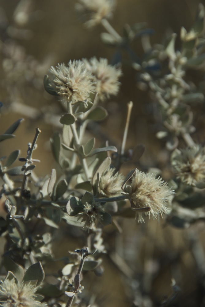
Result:
[[112,17],[115,0],[79,0],[75,7],[87,20],[85,25],[92,27],[100,23],[103,18]]

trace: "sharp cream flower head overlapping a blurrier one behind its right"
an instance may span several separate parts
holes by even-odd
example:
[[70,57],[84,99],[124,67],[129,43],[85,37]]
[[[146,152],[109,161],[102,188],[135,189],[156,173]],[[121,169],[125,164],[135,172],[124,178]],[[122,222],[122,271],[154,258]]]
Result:
[[53,74],[53,83],[59,96],[71,104],[89,100],[90,93],[94,91],[93,77],[82,61],[70,60],[68,66],[64,63],[58,64],[56,68],[51,67],[50,72]]

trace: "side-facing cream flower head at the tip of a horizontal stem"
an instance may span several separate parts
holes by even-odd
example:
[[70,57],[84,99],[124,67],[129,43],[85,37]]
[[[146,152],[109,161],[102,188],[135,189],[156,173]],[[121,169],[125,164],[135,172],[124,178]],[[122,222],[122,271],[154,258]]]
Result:
[[167,212],[166,204],[174,193],[162,178],[155,178],[152,173],[133,171],[130,185],[123,185],[123,194],[129,194],[131,209],[136,212],[138,222],[144,222],[143,214],[157,218]]

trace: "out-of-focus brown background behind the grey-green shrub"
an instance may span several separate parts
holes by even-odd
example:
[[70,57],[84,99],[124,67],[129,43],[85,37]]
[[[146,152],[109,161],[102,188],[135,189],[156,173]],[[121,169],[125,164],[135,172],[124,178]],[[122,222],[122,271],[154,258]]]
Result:
[[[51,168],[57,168],[49,139],[55,131],[60,131],[60,126],[50,115],[63,112],[58,98],[44,91],[44,74],[51,66],[74,59],[96,56],[111,61],[115,49],[101,42],[100,34],[105,32],[102,26],[92,29],[83,26],[75,14],[74,0],[21,1],[28,16],[17,14],[19,3],[17,0],[0,1],[0,101],[3,103],[0,132],[3,133],[21,117],[25,121],[17,130],[16,138],[4,142],[6,148],[0,144],[0,156],[8,155],[14,149],[20,149],[21,156],[25,156],[27,144],[32,142],[38,126],[42,133],[34,158],[41,161],[36,167],[36,174],[43,177],[51,172]],[[162,41],[169,29],[178,36],[182,26],[189,30],[198,5],[198,0],[118,0],[110,23],[122,34],[124,24],[146,22],[148,28],[154,29],[151,43],[156,44]],[[141,57],[140,39],[133,48]],[[164,144],[155,137],[157,130],[152,120],[150,97],[148,92],[138,89],[136,71],[127,64],[126,54],[122,71],[119,95],[105,102],[109,117],[102,122],[102,130],[105,134],[109,133],[110,145],[119,148],[127,103],[132,100],[134,107],[127,149],[143,143],[142,165],[147,169],[163,166]],[[48,115],[46,118],[45,114]],[[92,131],[89,133],[92,134]],[[169,175],[164,171],[165,179],[169,179]],[[113,226],[104,228],[108,250],[108,255],[103,256],[104,275],[96,277],[89,272],[82,283],[86,287],[87,280],[92,281],[90,290],[97,296],[99,306],[168,306],[161,305],[161,302],[173,293],[171,278],[176,280],[180,289],[176,290],[177,299],[169,306],[205,306],[204,222],[197,222],[191,229],[171,227],[165,219],[160,223],[146,220],[142,225],[134,219],[123,219],[119,223],[122,234],[116,233]],[[62,253],[66,255],[68,250],[79,248],[66,227],[64,225],[62,232],[54,235],[57,258]]]

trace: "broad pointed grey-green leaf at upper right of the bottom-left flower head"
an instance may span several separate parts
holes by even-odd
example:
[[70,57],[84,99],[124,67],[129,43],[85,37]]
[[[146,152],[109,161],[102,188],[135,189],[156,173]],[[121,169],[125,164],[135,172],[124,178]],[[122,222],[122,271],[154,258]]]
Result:
[[26,270],[23,281],[37,280],[36,286],[39,286],[44,280],[44,269],[40,262],[34,263]]

